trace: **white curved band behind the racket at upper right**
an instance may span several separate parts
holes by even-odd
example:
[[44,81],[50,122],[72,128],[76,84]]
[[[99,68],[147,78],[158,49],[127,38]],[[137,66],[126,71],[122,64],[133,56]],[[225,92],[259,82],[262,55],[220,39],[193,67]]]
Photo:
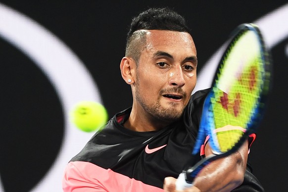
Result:
[[[253,22],[259,26],[268,48],[274,47],[288,37],[287,19],[288,4],[279,7]],[[225,45],[226,44],[212,55],[212,57],[205,63],[202,70],[198,73],[197,84],[193,93],[211,87],[214,73],[223,54]]]

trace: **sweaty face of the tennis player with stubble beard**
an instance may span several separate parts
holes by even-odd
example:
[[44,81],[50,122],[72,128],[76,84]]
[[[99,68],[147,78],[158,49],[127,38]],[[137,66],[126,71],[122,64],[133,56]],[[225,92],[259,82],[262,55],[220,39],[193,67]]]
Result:
[[148,115],[179,119],[196,84],[196,48],[185,32],[149,30],[139,59],[134,105]]

